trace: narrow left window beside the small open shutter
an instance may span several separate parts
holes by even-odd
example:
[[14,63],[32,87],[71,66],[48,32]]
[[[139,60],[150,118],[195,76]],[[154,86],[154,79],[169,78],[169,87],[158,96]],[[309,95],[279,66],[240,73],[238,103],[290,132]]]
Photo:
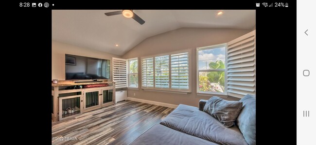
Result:
[[127,59],[128,61],[128,87],[138,88],[138,59]]

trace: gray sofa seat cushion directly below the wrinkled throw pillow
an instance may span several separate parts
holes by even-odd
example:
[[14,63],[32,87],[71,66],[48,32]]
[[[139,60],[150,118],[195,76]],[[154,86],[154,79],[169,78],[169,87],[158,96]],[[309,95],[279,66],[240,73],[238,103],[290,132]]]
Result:
[[160,124],[221,145],[247,145],[237,126],[226,128],[197,107],[180,104]]

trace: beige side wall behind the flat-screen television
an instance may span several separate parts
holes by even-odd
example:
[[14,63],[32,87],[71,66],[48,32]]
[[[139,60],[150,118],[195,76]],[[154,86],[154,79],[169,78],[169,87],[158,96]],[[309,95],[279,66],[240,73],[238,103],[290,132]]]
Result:
[[[52,41],[52,79],[65,80],[65,54],[109,59],[111,61],[112,57],[121,58],[101,51]],[[112,79],[112,69],[110,72],[110,79]]]

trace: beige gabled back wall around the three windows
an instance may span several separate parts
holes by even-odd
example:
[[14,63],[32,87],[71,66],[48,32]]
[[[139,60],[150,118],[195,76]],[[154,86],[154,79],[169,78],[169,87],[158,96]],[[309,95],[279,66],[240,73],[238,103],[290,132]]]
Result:
[[[198,101],[200,99],[208,100],[210,99],[210,96],[197,96],[196,94],[196,47],[227,43],[250,31],[250,29],[181,28],[145,39],[133,49],[124,54],[123,58],[140,58],[154,54],[191,49],[191,64],[193,71],[190,77],[192,78],[192,93],[176,94],[168,92],[144,91],[142,89],[128,89],[128,97],[176,105],[181,103],[191,106],[198,106]],[[139,80],[140,78],[141,75],[139,75]],[[235,101],[240,100],[239,98],[234,97],[228,97],[224,99]]]

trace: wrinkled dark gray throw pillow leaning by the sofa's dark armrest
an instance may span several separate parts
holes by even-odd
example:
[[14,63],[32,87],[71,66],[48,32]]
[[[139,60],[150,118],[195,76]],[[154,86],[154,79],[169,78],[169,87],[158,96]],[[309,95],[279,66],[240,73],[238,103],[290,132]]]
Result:
[[237,119],[242,107],[243,102],[226,101],[214,96],[206,102],[203,111],[219,120],[225,127],[229,128],[234,125],[234,121]]

